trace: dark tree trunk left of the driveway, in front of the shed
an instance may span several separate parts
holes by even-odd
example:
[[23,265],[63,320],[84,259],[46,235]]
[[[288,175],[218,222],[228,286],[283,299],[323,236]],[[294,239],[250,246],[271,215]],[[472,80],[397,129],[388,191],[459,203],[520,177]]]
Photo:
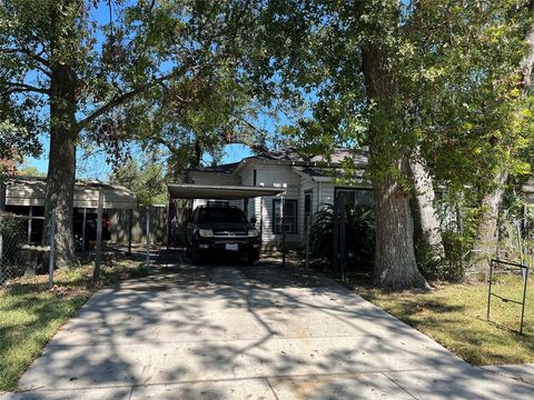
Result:
[[50,212],[56,211],[56,263],[78,264],[72,214],[76,177],[76,74],[62,63],[52,66],[50,80],[50,153],[44,204],[48,232]]

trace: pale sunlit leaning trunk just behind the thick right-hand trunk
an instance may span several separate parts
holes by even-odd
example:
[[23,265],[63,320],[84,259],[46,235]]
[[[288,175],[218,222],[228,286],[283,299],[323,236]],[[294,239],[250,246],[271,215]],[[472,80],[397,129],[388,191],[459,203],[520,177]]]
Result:
[[409,160],[409,177],[414,194],[411,201],[416,244],[429,251],[429,260],[439,262],[445,257],[439,221],[434,208],[435,192],[432,177],[426,170],[421,151],[416,148]]

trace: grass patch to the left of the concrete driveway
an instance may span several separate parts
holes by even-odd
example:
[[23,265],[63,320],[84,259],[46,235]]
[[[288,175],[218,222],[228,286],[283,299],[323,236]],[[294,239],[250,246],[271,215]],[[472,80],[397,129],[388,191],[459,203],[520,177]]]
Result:
[[52,291],[48,276],[19,278],[0,289],[0,392],[17,389],[22,372],[96,290],[146,274],[134,260],[107,259],[102,267],[97,287],[92,266],[82,266],[55,271]]

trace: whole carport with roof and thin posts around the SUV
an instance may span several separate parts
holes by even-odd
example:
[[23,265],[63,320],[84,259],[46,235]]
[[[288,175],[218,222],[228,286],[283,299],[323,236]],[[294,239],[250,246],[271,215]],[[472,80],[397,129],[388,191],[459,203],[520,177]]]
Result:
[[[248,199],[264,198],[266,196],[280,196],[281,198],[281,219],[283,226],[285,226],[284,216],[284,201],[285,201],[285,187],[247,187],[247,186],[219,186],[219,184],[191,184],[191,183],[170,183],[167,186],[169,191],[169,212],[167,219],[167,234],[170,233],[170,223],[174,213],[175,199],[206,199],[206,200],[245,200],[245,204],[248,204]],[[259,214],[263,216],[264,201],[260,202]],[[245,213],[247,213],[245,207]],[[259,221],[259,230],[263,238],[263,221]],[[286,233],[283,232],[281,239],[283,262],[286,262]]]

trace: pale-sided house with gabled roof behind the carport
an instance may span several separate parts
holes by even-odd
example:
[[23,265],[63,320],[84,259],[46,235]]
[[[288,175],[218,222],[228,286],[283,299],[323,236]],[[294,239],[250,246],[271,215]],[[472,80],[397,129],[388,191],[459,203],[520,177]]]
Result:
[[[337,182],[336,178],[343,177],[343,160],[353,156],[348,149],[337,149],[329,160],[323,157],[306,158],[293,149],[265,152],[239,162],[187,169],[184,171],[184,183],[284,188],[286,243],[287,247],[298,248],[304,244],[310,216],[319,210],[322,204],[334,203],[339,192],[346,192],[347,201],[354,204],[373,206],[370,184],[362,178],[367,164],[366,156],[354,157],[362,173],[357,173],[357,178],[353,179],[349,186]],[[266,248],[280,246],[280,196],[224,202],[241,208],[249,219],[256,218]],[[190,206],[195,209],[209,203],[220,203],[220,200],[194,199]]]

